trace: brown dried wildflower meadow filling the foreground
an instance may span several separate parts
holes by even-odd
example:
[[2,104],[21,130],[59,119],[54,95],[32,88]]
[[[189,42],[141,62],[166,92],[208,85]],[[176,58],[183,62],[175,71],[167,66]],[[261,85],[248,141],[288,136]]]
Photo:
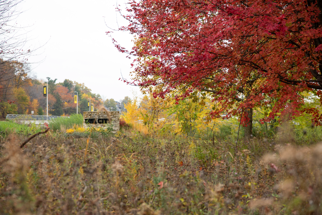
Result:
[[322,212],[319,144],[90,135],[2,139],[0,214]]

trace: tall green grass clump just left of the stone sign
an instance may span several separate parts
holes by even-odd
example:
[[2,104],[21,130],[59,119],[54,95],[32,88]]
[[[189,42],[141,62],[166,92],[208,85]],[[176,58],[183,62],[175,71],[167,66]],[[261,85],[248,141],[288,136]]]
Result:
[[74,125],[83,126],[83,116],[81,114],[71,114],[70,117],[59,117],[49,122],[49,127],[53,131],[71,129]]

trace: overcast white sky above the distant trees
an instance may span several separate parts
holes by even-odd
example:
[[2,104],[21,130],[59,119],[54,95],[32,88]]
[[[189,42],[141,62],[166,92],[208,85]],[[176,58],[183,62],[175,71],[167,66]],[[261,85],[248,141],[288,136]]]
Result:
[[[132,90],[138,92],[137,87],[118,80],[120,70],[129,77],[132,60],[119,53],[105,33],[110,31],[106,24],[112,28],[127,24],[115,12],[116,4],[116,0],[25,0],[19,5],[24,12],[17,18],[18,26],[30,26],[26,46],[42,46],[37,56],[28,57],[29,63],[43,60],[31,65],[37,78],[85,83],[93,93],[116,101],[132,97]],[[118,5],[124,6],[124,1]],[[132,47],[132,35],[115,32],[113,37],[123,47]]]

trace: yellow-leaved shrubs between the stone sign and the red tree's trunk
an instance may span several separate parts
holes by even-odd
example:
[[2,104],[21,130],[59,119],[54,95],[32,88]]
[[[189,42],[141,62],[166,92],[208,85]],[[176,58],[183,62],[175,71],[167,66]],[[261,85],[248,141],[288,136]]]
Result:
[[[210,136],[220,132],[222,119],[212,119],[209,112],[213,101],[208,94],[195,93],[181,101],[171,97],[154,98],[152,93],[143,98],[134,97],[131,103],[125,105],[127,112],[121,116],[127,123],[146,125],[153,135],[164,135],[169,132],[185,136]],[[211,135],[212,136],[212,135]]]

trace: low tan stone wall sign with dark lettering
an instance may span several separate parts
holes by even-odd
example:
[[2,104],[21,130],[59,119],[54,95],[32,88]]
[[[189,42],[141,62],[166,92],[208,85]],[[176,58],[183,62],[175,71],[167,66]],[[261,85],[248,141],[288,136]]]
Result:
[[[110,111],[112,125],[113,125],[113,133],[120,130],[120,112],[118,111]],[[83,112],[84,120],[83,127],[85,129],[91,127],[94,128],[107,128],[108,126],[108,117],[105,111],[84,111]]]

